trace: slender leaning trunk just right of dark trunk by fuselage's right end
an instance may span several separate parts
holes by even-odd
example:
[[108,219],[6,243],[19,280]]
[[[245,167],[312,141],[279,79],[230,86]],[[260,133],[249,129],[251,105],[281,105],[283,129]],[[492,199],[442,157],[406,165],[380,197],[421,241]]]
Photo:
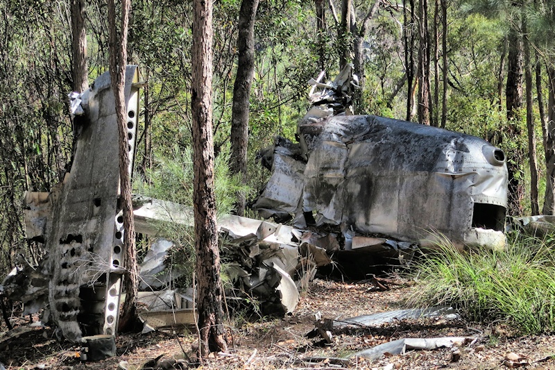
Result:
[[532,215],[540,214],[538,203],[538,160],[536,158],[536,132],[533,122],[532,106],[532,69],[530,61],[530,45],[527,38],[527,22],[522,22],[522,33],[524,33],[524,83],[526,85],[526,126],[528,129],[528,160],[530,165],[530,201]]

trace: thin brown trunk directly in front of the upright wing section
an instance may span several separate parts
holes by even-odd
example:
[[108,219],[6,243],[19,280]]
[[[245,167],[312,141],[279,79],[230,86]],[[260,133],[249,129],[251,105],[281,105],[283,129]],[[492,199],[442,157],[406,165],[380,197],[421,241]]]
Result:
[[135,224],[133,223],[133,203],[131,201],[131,179],[129,174],[129,151],[127,138],[127,113],[125,101],[125,76],[127,63],[127,33],[129,24],[130,0],[121,0],[121,27],[119,35],[116,25],[116,6],[108,0],[108,24],[110,26],[110,79],[116,104],[117,125],[119,129],[119,187],[123,208],[123,246],[126,253],[123,267],[127,274],[123,279],[126,300],[123,302],[119,319],[119,330],[135,328],[137,323],[137,258],[135,257]]

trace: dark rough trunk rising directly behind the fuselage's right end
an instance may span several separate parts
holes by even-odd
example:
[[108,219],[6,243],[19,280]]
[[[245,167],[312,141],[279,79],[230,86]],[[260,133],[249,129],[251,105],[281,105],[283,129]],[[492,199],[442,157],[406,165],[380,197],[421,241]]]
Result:
[[[508,121],[507,136],[515,140],[522,134],[520,130],[518,111],[522,107],[522,40],[518,33],[511,29],[509,31],[509,65],[506,83],[506,110]],[[524,198],[524,186],[522,178],[522,162],[524,162],[524,150],[517,147],[507,162],[509,171],[509,214],[522,215],[522,199]]]

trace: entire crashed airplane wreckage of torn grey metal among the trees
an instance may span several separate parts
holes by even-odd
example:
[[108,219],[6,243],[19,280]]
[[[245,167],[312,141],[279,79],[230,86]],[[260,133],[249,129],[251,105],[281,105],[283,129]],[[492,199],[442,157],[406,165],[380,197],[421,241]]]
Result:
[[[400,258],[440,233],[459,246],[504,246],[507,171],[500,149],[440,128],[350,115],[357,87],[352,67],[327,84],[322,76],[311,80],[312,107],[298,124],[299,143],[278,137],[259,153],[272,173],[253,208],[264,218],[292,218],[293,226],[232,215],[218,221],[237,290],[289,313],[298,303],[297,285],[332,264],[332,255]],[[128,66],[130,163],[141,86],[137,66]],[[44,308],[43,321],[87,343],[116,335],[125,276],[108,72],[75,94],[71,107],[78,131],[71,171],[51,192],[27,192],[24,199],[27,237],[44,242],[47,254],[39,266],[14,269],[0,294],[22,301],[24,314]],[[137,233],[152,237],[160,233],[157,223],[192,224],[184,205],[144,196],[135,196],[134,217]],[[173,326],[179,317],[194,321],[194,292],[164,290],[174,277],[164,260],[171,245],[156,239],[140,269],[148,292],[139,301],[151,309],[141,317],[151,328]],[[93,352],[89,360],[99,357]]]

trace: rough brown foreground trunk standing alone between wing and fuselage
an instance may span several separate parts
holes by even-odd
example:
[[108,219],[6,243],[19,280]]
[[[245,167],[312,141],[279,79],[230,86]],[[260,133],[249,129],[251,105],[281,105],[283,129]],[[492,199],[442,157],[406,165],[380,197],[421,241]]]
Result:
[[220,253],[214,195],[214,140],[212,137],[212,1],[194,0],[191,58],[193,115],[194,229],[197,313],[200,330],[198,355],[226,351],[223,329]]

